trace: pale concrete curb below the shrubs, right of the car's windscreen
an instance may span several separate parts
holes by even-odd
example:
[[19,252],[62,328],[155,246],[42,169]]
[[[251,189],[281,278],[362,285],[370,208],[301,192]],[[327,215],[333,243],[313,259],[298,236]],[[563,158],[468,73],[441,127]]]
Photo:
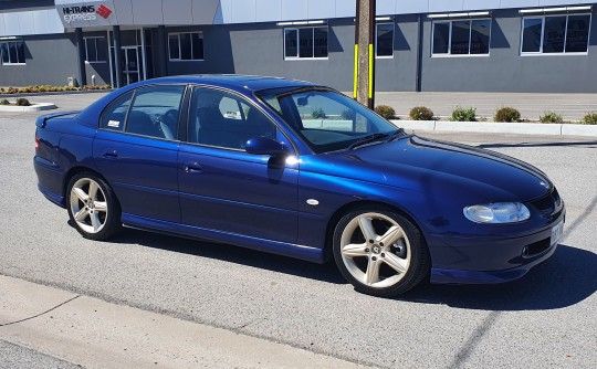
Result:
[[413,130],[597,137],[597,125],[583,125],[583,124],[438,122],[438,120],[390,120],[390,122],[405,129],[413,129]]

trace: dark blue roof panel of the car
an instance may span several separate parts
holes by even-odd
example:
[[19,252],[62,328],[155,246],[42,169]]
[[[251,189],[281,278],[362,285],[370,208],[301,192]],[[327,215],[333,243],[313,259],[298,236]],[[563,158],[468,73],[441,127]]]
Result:
[[196,74],[160,77],[145,81],[146,83],[192,83],[206,84],[231,89],[248,89],[256,92],[270,88],[315,86],[313,83],[282,77],[241,75],[241,74]]

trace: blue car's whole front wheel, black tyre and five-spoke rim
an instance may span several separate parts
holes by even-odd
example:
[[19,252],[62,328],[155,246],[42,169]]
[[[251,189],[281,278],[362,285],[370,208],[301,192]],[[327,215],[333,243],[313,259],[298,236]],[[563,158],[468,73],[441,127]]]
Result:
[[402,294],[430,270],[425,240],[405,217],[381,207],[354,210],[334,232],[334,259],[355,289],[380,297]]

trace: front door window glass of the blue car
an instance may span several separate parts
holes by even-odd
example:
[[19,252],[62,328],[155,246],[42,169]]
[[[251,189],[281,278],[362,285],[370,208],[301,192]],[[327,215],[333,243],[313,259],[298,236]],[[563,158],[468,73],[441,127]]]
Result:
[[189,141],[229,149],[244,149],[253,137],[275,139],[275,125],[256,107],[237,95],[205,87],[192,93]]

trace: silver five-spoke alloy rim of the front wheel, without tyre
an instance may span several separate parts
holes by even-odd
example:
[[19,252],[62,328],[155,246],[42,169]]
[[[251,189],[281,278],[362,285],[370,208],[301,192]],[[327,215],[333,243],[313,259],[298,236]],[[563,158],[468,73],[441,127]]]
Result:
[[350,275],[373,288],[400,282],[410,267],[408,235],[391,218],[367,212],[352,219],[341,236],[341,255]]

